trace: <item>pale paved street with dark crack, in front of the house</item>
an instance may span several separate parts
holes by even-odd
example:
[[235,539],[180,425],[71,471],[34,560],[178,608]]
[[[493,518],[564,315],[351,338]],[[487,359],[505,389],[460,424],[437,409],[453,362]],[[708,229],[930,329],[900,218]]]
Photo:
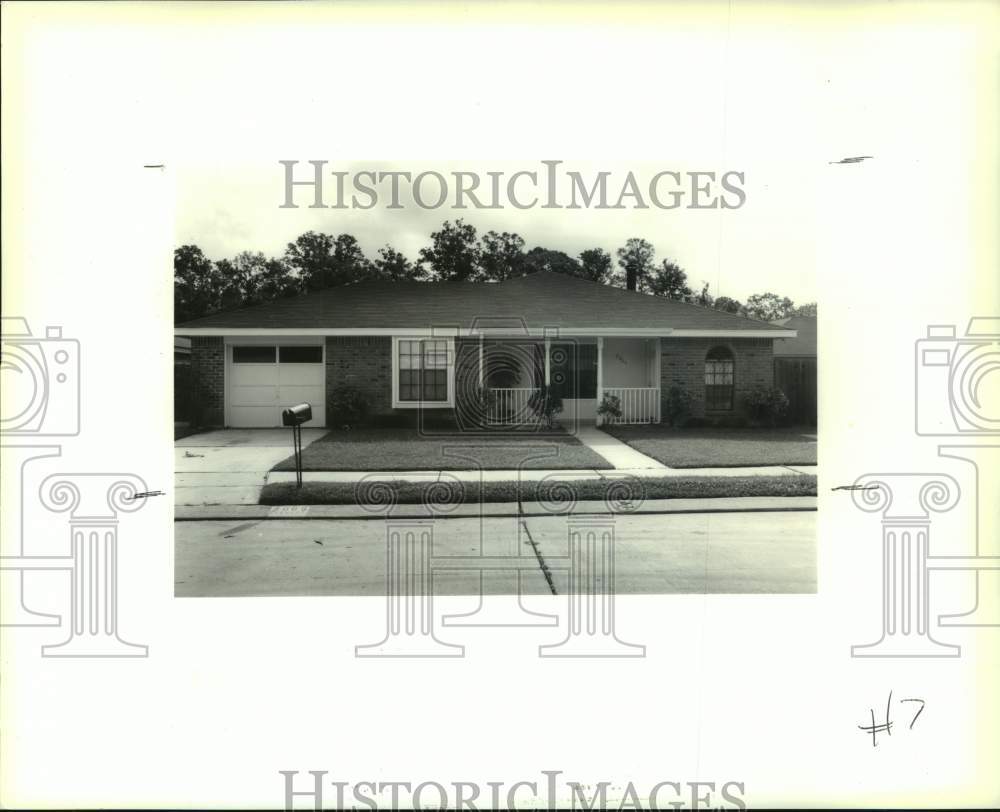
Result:
[[[613,528],[606,572],[618,594],[816,591],[814,511],[591,516],[582,524],[439,518],[411,529],[431,533],[434,594],[527,596],[571,591],[568,535],[588,528],[605,538]],[[384,519],[184,521],[174,531],[178,597],[386,594]]]

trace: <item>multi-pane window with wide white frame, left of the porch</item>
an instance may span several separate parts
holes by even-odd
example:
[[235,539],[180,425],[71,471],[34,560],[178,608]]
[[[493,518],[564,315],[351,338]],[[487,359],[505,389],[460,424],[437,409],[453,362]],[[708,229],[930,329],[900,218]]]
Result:
[[393,345],[393,406],[451,406],[452,340],[399,338]]

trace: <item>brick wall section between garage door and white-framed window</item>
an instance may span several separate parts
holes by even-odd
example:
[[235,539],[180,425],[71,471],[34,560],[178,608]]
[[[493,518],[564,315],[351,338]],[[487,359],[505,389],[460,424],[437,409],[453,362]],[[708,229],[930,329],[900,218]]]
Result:
[[372,414],[392,410],[392,339],[389,336],[327,336],[326,395],[341,386],[363,392]]

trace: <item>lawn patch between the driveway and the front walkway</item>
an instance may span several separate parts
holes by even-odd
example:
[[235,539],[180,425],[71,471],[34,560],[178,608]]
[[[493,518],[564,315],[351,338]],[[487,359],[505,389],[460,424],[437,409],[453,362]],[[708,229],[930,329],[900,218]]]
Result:
[[[540,456],[546,455],[546,456]],[[497,437],[425,436],[412,428],[331,431],[302,453],[304,471],[469,471],[518,468],[611,468],[568,434]],[[295,470],[288,457],[271,470]]]

